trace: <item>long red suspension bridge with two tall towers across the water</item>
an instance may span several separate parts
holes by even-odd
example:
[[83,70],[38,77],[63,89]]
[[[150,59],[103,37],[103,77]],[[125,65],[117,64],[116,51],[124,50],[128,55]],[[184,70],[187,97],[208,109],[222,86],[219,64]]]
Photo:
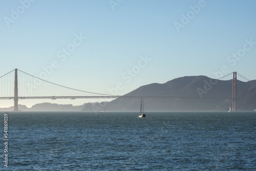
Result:
[[[236,111],[237,97],[237,76],[243,80],[249,81],[243,75],[233,72],[219,79],[232,78],[232,97],[180,97],[180,96],[162,96],[148,95],[143,98],[173,98],[173,99],[224,99],[232,100],[232,111]],[[140,96],[111,95],[93,93],[88,91],[77,90],[59,84],[41,79],[28,74],[24,71],[14,69],[0,77],[0,99],[14,99],[14,111],[18,111],[19,99],[82,99],[82,98],[141,98]]]

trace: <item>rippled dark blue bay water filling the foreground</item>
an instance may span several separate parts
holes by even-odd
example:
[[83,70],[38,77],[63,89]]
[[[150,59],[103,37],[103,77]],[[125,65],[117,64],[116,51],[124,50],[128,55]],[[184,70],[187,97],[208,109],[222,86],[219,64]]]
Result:
[[137,112],[8,112],[8,168],[256,169],[254,112],[150,112],[146,118],[137,116]]

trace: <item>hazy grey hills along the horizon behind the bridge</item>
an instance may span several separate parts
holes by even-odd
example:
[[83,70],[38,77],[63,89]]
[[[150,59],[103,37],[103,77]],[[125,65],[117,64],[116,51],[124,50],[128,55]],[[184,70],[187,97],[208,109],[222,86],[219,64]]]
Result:
[[[256,109],[256,80],[237,81],[237,110]],[[215,80],[206,76],[185,76],[165,83],[151,83],[125,94],[144,96],[145,111],[228,111],[232,107],[232,80]],[[161,98],[146,98],[158,96]],[[172,96],[175,98],[162,98]],[[118,98],[111,102],[72,104],[40,103],[32,108],[19,105],[21,111],[138,111],[140,98]],[[1,111],[12,111],[13,107]]]

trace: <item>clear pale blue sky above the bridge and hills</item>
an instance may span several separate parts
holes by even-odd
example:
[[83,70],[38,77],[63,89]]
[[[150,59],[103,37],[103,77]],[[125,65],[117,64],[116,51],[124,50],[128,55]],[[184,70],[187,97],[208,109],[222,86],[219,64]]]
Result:
[[[121,82],[119,95],[182,76],[215,77],[213,72],[223,66],[228,73],[256,79],[256,1],[0,0],[0,4],[1,76],[15,68],[39,76],[45,72],[42,67],[57,61],[48,81],[104,94]],[[68,47],[66,55],[62,49]],[[148,60],[143,63],[145,56]]]

